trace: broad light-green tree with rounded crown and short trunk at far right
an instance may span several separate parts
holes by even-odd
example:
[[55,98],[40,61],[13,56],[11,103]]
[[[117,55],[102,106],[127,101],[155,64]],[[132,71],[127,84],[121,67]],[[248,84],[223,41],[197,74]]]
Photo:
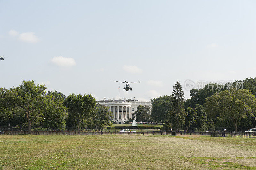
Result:
[[231,120],[237,132],[239,118],[255,115],[256,97],[248,89],[230,89],[207,98],[204,107],[213,117]]

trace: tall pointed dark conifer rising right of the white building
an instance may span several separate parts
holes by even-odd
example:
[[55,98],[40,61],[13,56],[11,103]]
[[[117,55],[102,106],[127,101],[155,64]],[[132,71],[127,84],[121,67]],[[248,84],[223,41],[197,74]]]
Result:
[[185,117],[187,116],[187,113],[184,109],[184,92],[182,91],[179,81],[177,81],[175,86],[173,86],[172,111],[168,114],[170,122],[177,128],[177,130],[185,124]]

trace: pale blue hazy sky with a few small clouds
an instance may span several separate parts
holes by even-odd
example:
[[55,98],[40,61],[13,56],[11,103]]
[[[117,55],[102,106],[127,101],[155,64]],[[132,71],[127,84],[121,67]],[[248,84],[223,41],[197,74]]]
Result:
[[[150,101],[256,77],[256,1],[0,0],[0,87]],[[132,91],[123,91],[125,83]],[[118,90],[120,87],[120,91]]]

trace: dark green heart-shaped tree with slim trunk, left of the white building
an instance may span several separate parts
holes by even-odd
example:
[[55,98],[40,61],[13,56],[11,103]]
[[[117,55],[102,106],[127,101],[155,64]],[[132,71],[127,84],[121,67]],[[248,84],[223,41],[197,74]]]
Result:
[[76,117],[78,134],[80,134],[80,124],[83,119],[90,119],[93,114],[93,109],[96,105],[96,99],[89,95],[70,94],[64,101],[64,106],[67,107],[69,114]]

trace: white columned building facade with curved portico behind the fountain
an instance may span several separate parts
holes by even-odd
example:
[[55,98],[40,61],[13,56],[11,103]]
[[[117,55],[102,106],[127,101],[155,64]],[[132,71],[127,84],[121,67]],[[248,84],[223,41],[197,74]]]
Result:
[[133,99],[106,99],[97,101],[97,104],[108,106],[109,110],[112,112],[114,118],[113,121],[117,124],[123,124],[127,122],[130,118],[134,119],[134,112],[137,110],[139,105],[152,107],[151,102],[144,102]]

